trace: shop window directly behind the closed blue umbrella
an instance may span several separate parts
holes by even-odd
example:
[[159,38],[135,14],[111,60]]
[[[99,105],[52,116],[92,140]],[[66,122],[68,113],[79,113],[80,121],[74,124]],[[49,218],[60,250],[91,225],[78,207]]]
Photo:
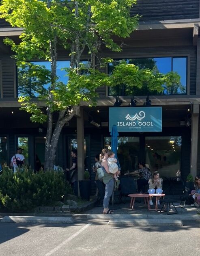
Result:
[[[134,171],[138,169],[139,137],[118,137],[117,157],[120,163],[122,174],[126,171]],[[104,148],[111,148],[111,137],[104,137]]]

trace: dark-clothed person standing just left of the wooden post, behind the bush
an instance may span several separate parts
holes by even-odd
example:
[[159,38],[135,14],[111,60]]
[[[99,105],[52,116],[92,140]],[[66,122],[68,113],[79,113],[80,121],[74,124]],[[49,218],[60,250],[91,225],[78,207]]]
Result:
[[66,168],[66,171],[70,171],[70,183],[73,187],[74,195],[78,195],[78,166],[77,166],[77,150],[71,150],[72,166]]

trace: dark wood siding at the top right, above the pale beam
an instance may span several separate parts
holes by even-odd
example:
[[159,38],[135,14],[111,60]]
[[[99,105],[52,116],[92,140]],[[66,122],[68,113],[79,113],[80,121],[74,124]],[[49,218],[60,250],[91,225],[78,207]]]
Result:
[[130,14],[142,15],[140,21],[195,19],[199,18],[199,0],[138,0]]

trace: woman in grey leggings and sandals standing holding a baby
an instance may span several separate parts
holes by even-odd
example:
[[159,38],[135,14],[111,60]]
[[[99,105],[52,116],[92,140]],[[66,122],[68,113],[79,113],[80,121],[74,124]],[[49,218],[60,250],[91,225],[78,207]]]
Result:
[[[114,176],[110,173],[109,167],[108,167],[108,148],[104,148],[101,152],[101,167],[103,169],[103,183],[105,184],[105,195],[103,199],[103,214],[112,214],[113,211],[108,208],[110,197],[112,195],[112,192],[114,190]],[[119,174],[120,171],[118,171],[116,174]]]

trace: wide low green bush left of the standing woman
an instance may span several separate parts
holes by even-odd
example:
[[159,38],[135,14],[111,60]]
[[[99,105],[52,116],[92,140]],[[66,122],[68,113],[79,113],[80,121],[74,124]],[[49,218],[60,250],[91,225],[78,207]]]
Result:
[[0,202],[8,210],[32,210],[36,206],[48,206],[60,201],[63,195],[72,193],[63,171],[39,171],[23,167],[13,173],[3,168],[0,176]]

